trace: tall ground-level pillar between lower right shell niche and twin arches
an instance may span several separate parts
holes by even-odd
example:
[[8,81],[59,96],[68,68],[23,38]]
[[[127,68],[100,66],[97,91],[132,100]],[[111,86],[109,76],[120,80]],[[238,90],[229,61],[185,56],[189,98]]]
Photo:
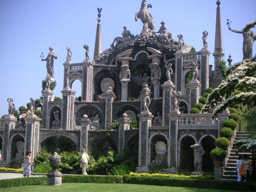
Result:
[[171,111],[169,117],[169,149],[168,152],[168,169],[166,173],[178,173],[178,119],[180,111]]

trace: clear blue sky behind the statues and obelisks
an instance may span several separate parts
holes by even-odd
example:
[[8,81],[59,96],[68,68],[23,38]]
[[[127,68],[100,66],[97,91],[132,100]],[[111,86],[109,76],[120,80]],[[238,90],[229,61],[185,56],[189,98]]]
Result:
[[[156,30],[164,21],[174,39],[183,34],[185,44],[197,51],[202,49],[202,31],[209,32],[208,47],[214,51],[216,0],[147,0]],[[102,51],[109,48],[114,37],[120,36],[123,26],[132,34],[142,29],[140,20],[134,21],[141,0],[1,0],[0,1],[0,52],[1,94],[0,115],[7,114],[7,98],[14,98],[16,109],[25,106],[29,98],[41,96],[41,83],[46,76],[46,62],[40,60],[43,52],[47,56],[49,46],[54,48],[58,59],[54,61],[54,79],[57,87],[54,96],[62,97],[63,63],[66,61],[66,46],[71,47],[72,62],[85,59],[83,45],[90,47],[92,60],[97,25],[97,7],[102,7],[101,38]],[[242,60],[242,34],[228,30],[241,30],[255,19],[255,0],[221,0],[221,20],[225,60],[231,54],[233,64]],[[255,29],[253,29],[256,32]],[[253,47],[253,55],[256,45]],[[213,56],[210,57],[213,65]],[[76,80],[72,89],[81,95],[81,83]]]

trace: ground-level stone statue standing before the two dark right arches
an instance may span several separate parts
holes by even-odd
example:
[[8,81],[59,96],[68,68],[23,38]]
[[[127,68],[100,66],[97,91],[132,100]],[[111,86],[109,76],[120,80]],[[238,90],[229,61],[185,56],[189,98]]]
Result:
[[194,149],[194,166],[195,171],[202,173],[202,162],[203,162],[203,155],[205,154],[205,151],[201,144],[195,144],[190,146],[192,149]]

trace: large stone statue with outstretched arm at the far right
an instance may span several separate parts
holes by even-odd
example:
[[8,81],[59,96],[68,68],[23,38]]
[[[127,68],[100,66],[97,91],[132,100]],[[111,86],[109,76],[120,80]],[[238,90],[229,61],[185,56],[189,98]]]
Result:
[[253,31],[249,30],[248,32],[237,31],[234,29],[228,28],[230,31],[235,33],[243,34],[243,60],[253,58]]

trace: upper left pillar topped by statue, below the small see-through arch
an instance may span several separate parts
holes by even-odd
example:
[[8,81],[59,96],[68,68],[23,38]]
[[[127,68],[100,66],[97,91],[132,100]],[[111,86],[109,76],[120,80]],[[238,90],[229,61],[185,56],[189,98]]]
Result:
[[60,127],[63,130],[73,130],[74,120],[74,96],[76,91],[64,89],[62,93],[62,111]]

